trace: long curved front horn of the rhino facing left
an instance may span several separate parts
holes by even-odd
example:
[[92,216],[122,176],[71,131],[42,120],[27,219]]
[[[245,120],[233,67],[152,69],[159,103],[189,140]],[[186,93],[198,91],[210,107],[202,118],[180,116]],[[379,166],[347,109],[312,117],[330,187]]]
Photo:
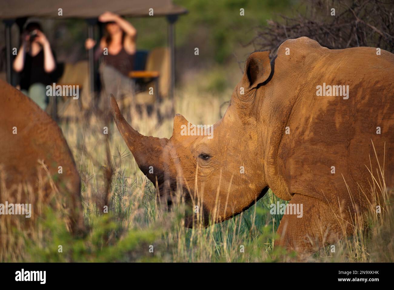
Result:
[[168,139],[141,135],[123,118],[113,94],[110,95],[110,102],[116,126],[133,153],[139,169],[156,184],[156,177],[160,180],[163,176],[163,148],[167,145]]

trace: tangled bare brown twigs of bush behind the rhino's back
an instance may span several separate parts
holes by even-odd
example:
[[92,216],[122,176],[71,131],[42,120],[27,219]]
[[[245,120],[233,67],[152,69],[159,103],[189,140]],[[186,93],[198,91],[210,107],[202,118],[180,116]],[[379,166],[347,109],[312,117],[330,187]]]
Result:
[[272,54],[286,39],[307,36],[329,49],[379,47],[394,52],[394,2],[386,0],[302,0],[295,16],[282,16],[257,32],[259,49]]

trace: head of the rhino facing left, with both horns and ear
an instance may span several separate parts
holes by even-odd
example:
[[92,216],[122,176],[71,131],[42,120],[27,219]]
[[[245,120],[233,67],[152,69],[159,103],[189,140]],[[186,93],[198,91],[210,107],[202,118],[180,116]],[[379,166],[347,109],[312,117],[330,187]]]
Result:
[[[186,203],[202,207],[204,224],[209,225],[241,213],[267,192],[264,123],[257,110],[263,93],[259,88],[270,78],[269,51],[252,53],[210,136],[182,134],[188,121],[180,114],[174,118],[171,138],[143,136],[126,122],[111,95],[117,128],[138,167],[156,185],[161,204],[170,206],[173,192],[182,188]],[[192,225],[193,213],[186,217],[186,226]]]

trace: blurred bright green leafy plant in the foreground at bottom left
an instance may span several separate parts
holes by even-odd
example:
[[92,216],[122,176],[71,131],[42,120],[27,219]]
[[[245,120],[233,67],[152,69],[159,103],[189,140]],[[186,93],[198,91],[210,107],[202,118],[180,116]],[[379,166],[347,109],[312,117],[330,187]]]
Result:
[[26,251],[25,255],[20,255],[20,262],[156,261],[148,249],[160,236],[160,230],[129,229],[121,238],[112,238],[124,229],[110,214],[95,216],[90,226],[91,230],[85,236],[73,236],[67,231],[63,219],[48,209],[37,225],[45,238],[37,240],[19,233],[25,239]]

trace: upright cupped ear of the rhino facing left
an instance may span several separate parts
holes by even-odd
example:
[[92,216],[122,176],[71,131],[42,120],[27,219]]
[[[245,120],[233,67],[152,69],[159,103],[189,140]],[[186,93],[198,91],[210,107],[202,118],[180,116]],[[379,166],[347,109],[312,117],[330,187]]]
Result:
[[243,84],[246,88],[253,89],[265,82],[271,74],[271,51],[256,51],[250,54],[245,62]]

